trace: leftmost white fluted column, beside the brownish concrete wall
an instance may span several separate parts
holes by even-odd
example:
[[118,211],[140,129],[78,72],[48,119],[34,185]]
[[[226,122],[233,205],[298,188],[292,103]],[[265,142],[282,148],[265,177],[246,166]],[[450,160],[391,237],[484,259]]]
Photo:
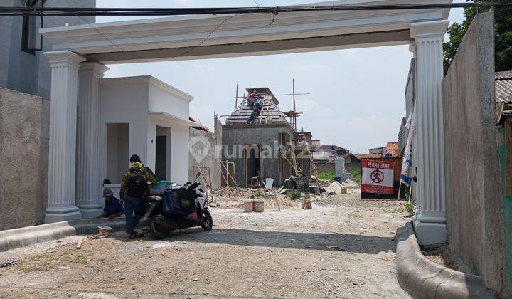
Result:
[[51,67],[50,150],[46,223],[80,219],[75,206],[78,67],[85,59],[71,51],[45,52]]

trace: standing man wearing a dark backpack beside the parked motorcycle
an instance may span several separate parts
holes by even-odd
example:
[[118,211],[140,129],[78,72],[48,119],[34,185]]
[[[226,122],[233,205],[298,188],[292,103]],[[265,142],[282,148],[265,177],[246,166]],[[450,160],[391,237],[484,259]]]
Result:
[[124,173],[121,182],[121,204],[124,204],[126,214],[126,228],[130,239],[142,238],[144,234],[134,231],[146,210],[146,196],[149,193],[149,184],[156,184],[156,178],[149,167],[144,167],[137,154],[130,157],[130,167]]

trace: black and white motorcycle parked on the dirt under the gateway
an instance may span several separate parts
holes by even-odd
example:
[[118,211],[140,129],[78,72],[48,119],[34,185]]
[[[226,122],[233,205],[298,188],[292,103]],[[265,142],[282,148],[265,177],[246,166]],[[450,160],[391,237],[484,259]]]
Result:
[[147,196],[144,219],[151,218],[149,231],[154,238],[169,237],[171,231],[201,226],[205,231],[213,227],[213,219],[208,211],[206,192],[198,189],[197,182],[183,186],[176,183],[165,187],[164,191]]

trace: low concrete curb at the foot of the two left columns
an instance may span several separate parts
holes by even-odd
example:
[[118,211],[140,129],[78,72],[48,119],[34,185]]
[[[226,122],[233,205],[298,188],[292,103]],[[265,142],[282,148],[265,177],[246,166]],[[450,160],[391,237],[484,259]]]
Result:
[[[139,227],[144,227],[149,221],[141,221]],[[53,224],[41,224],[38,226],[26,226],[19,229],[0,231],[0,252],[14,248],[57,240],[66,236],[80,234],[97,234],[97,226],[106,225],[112,227],[112,231],[124,231],[124,217],[114,221],[110,219],[81,219],[73,221],[61,221]]]

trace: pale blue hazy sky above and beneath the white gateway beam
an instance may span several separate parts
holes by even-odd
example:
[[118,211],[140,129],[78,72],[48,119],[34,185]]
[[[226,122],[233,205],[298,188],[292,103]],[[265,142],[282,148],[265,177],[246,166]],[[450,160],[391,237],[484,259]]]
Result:
[[[311,1],[256,0],[259,5],[306,4]],[[97,0],[98,7],[255,6],[254,0]],[[452,9],[450,21],[461,21]],[[97,22],[141,19],[100,16]],[[191,116],[213,127],[213,112],[229,114],[239,90],[268,86],[276,93],[296,93],[298,127],[311,131],[324,145],[366,153],[370,147],[396,141],[405,115],[404,90],[412,53],[408,46],[359,48],[313,53],[109,65],[107,77],[154,75],[195,97]],[[257,66],[257,71],[252,69]],[[241,92],[240,92],[241,93]],[[292,97],[278,97],[279,107],[292,109]],[[224,117],[221,117],[223,120]]]

